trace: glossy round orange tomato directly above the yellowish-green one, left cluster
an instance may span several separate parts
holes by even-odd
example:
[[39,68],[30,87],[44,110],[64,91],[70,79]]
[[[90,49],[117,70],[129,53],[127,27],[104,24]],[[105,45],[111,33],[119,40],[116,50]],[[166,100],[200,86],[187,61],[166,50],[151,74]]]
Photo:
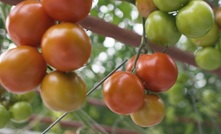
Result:
[[91,54],[90,38],[80,25],[72,23],[49,28],[42,38],[41,48],[47,63],[60,71],[82,67]]

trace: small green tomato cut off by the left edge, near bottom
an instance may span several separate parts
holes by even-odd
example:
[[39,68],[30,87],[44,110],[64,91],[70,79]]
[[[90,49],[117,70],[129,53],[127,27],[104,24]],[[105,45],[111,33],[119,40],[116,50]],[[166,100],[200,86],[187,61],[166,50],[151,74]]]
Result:
[[0,128],[4,128],[10,121],[9,111],[0,104]]

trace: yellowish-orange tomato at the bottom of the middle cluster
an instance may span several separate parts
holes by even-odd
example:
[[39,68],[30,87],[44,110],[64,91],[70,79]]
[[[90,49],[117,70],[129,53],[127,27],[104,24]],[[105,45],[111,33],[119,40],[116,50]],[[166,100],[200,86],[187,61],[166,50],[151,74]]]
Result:
[[151,127],[159,124],[165,116],[165,104],[160,96],[147,94],[144,105],[130,114],[132,121],[141,127]]

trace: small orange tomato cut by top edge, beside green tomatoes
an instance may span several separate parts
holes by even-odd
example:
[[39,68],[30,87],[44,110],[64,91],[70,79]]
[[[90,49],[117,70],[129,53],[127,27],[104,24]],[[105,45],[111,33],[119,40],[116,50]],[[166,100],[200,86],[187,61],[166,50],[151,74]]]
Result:
[[135,5],[142,17],[147,17],[151,12],[157,9],[153,4],[153,0],[136,0]]

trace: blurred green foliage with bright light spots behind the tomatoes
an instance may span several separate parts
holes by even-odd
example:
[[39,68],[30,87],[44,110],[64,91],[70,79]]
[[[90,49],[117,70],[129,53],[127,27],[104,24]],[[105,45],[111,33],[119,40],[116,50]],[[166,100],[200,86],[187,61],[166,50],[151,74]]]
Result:
[[[211,1],[218,4],[218,1]],[[5,18],[11,8],[0,2],[0,45],[1,52],[13,45],[5,30]],[[91,15],[131,29],[142,34],[141,17],[134,5],[114,0],[94,0]],[[88,91],[101,81],[122,61],[133,56],[137,48],[122,44],[112,38],[87,31],[93,42],[92,55],[88,64],[78,70],[88,86]],[[196,48],[182,40],[177,47],[194,52]],[[107,133],[104,129],[92,129],[92,125],[106,125],[112,128],[133,130],[139,134],[219,134],[221,133],[221,78],[196,67],[177,61],[179,78],[169,92],[160,94],[166,103],[166,116],[163,122],[150,128],[141,128],[132,123],[128,116],[119,116],[107,107],[85,103],[79,111],[69,113],[62,121],[80,121],[84,127],[69,128],[57,124],[49,133],[61,134],[77,131],[78,133]],[[122,67],[121,69],[124,69]],[[88,96],[89,99],[102,101],[101,86]],[[40,122],[43,117],[59,118],[62,113],[53,112],[44,107],[41,98],[36,94],[31,102],[38,118],[23,124],[8,124],[8,128],[42,132],[50,124]],[[100,126],[101,127],[101,126]],[[1,132],[1,129],[0,129]]]

